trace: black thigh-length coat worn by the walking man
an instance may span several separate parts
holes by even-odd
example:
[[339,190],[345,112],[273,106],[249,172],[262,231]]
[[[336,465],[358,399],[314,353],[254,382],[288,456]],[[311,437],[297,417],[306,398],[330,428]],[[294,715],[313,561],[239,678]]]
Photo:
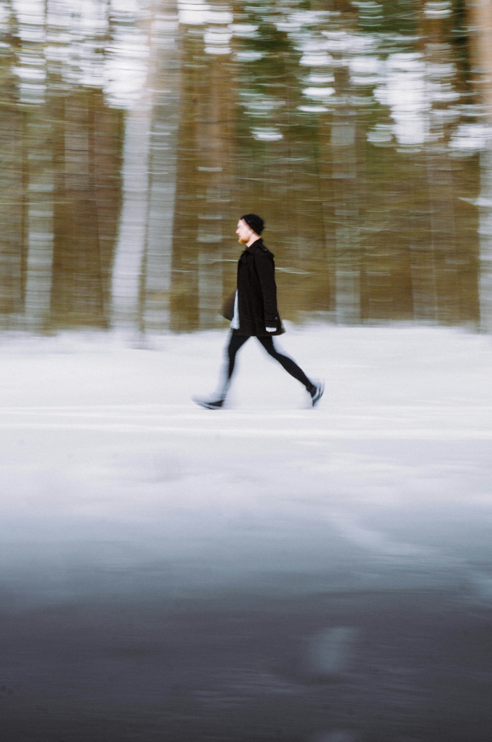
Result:
[[[237,266],[239,329],[237,335],[282,335],[285,332],[276,305],[273,253],[256,240],[242,252]],[[275,332],[267,332],[275,327]]]

